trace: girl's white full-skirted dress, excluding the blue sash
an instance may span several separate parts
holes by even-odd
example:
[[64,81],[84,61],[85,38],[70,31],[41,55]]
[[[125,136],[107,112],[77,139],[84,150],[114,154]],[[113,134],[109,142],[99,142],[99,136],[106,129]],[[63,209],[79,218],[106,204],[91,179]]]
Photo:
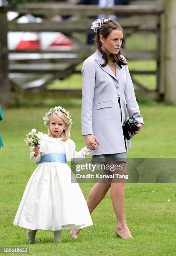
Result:
[[[37,157],[31,154],[31,160],[38,161],[46,154],[65,154],[60,138],[45,135],[41,148],[42,153]],[[74,151],[74,155],[75,152],[78,157],[87,154],[84,148],[79,152]],[[26,185],[13,224],[32,230],[79,229],[93,225],[79,184],[71,183],[71,173],[64,162],[38,164]]]

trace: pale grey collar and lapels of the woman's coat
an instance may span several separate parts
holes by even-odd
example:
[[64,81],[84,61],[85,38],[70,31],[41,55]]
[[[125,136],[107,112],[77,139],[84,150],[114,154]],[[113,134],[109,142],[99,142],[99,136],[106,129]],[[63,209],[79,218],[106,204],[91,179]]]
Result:
[[96,51],[96,53],[98,55],[98,58],[95,58],[95,61],[99,64],[99,67],[101,67],[101,69],[104,70],[107,74],[109,74],[110,76],[118,80],[122,73],[122,69],[117,64],[115,64],[115,72],[116,72],[116,75],[115,75],[108,65],[106,65],[105,67],[101,66],[105,61],[104,59],[102,59],[102,54],[98,50]]

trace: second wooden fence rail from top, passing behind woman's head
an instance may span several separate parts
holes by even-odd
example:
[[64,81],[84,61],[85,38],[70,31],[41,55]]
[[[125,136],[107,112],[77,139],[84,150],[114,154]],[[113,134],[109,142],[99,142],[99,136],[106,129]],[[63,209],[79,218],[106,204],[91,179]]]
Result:
[[[62,20],[61,22],[54,22],[51,20],[43,20],[42,23],[16,23],[11,21],[9,23],[9,31],[60,31],[62,33],[85,33],[92,32],[90,24],[92,19],[80,19],[77,20]],[[157,24],[159,23],[159,17],[153,15],[146,15],[145,17],[132,16],[125,18],[118,18],[120,25],[125,28],[135,28],[138,31],[153,31],[157,30]]]

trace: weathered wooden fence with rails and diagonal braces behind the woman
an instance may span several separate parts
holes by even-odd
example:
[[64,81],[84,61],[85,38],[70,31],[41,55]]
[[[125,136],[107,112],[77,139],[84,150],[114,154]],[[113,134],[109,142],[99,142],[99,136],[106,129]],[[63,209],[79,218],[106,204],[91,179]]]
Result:
[[[166,0],[167,1],[167,0]],[[146,3],[147,1],[145,1]],[[151,3],[151,1],[148,1]],[[3,21],[4,26],[0,27],[1,44],[0,44],[0,101],[2,104],[9,101],[10,85],[7,81],[8,71],[10,73],[23,73],[23,74],[50,74],[50,77],[46,79],[41,85],[42,90],[46,90],[46,85],[51,83],[54,79],[64,79],[74,73],[80,73],[80,70],[76,70],[76,67],[90,54],[94,52],[94,47],[87,46],[78,39],[77,33],[90,33],[90,24],[92,18],[89,16],[96,16],[100,13],[104,15],[117,15],[117,21],[122,25],[125,33],[128,37],[133,32],[153,32],[157,36],[157,49],[156,51],[139,51],[139,50],[126,50],[126,56],[130,60],[155,60],[157,62],[157,69],[155,71],[148,70],[130,70],[132,79],[135,85],[137,85],[141,92],[150,93],[145,86],[139,83],[133,75],[135,74],[155,74],[157,76],[157,85],[155,93],[160,96],[164,96],[166,93],[166,58],[163,51],[166,47],[166,35],[164,34],[164,25],[166,24],[166,16],[164,9],[164,0],[152,1],[153,4],[148,5],[117,5],[113,8],[99,8],[97,5],[69,5],[69,4],[28,4],[19,5],[15,11],[19,13],[19,16],[8,24],[5,20],[5,13],[8,11],[5,8],[0,8],[0,20]],[[34,16],[42,18],[41,23],[17,23],[16,20],[26,14],[31,13]],[[56,22],[51,18],[56,15],[71,15],[71,18]],[[73,18],[74,17],[74,18]],[[17,51],[7,50],[6,35],[8,31],[60,31],[66,36],[70,37],[73,41],[73,49],[70,51]],[[76,36],[75,36],[76,35]],[[8,70],[7,56],[8,53],[54,53],[54,54],[76,54],[75,58],[48,58],[48,59],[36,59],[36,60],[10,60],[10,66]],[[64,69],[43,69],[39,68],[26,68],[24,64],[43,64],[43,63],[65,63]],[[17,65],[18,64],[18,65]],[[6,77],[6,79],[4,78]],[[2,91],[3,90],[3,91]],[[8,95],[8,96],[7,96]],[[169,100],[169,96],[168,96]]]

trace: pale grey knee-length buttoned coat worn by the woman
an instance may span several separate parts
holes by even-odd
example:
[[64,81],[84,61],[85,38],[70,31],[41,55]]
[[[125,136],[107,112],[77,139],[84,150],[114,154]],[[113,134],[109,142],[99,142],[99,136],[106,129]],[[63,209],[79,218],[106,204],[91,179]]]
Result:
[[[89,56],[82,67],[82,135],[93,134],[99,140],[92,155],[126,152],[130,141],[125,141],[122,123],[127,117],[143,123],[128,65],[122,69],[115,64],[116,76],[104,63],[97,50]],[[117,97],[120,97],[122,121]]]

